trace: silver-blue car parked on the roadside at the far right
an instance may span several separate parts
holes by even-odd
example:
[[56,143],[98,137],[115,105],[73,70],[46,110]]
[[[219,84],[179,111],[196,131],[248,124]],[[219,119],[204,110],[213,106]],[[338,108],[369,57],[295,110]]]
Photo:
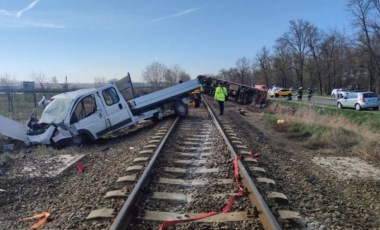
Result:
[[379,97],[373,92],[347,93],[343,98],[337,101],[337,107],[354,108],[356,110],[372,108],[379,109]]

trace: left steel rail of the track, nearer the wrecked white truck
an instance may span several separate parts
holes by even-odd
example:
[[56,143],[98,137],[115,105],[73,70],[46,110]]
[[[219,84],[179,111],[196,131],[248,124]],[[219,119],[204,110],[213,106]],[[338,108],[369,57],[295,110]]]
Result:
[[137,181],[136,185],[134,186],[132,192],[128,196],[128,199],[125,201],[123,207],[117,214],[114,222],[111,225],[111,230],[124,230],[127,229],[128,224],[130,222],[130,219],[132,217],[132,212],[134,210],[134,205],[137,203],[139,199],[139,192],[142,188],[142,186],[145,184],[147,178],[150,176],[150,172],[152,171],[153,165],[158,157],[158,155],[161,152],[162,147],[166,143],[166,140],[168,139],[170,133],[172,132],[173,128],[176,126],[177,122],[179,120],[179,117],[175,119],[173,124],[170,126],[168,132],[163,137],[162,141],[156,148],[156,151],[154,152],[154,155],[152,156],[151,160],[149,161],[148,165],[144,169],[144,172],[142,173],[140,179]]

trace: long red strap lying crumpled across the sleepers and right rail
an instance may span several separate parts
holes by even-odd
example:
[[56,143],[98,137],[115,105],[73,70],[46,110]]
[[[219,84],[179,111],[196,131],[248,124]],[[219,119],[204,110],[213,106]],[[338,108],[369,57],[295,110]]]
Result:
[[[252,159],[254,159],[254,158],[257,158],[257,157],[260,157],[260,156],[261,156],[261,153],[257,152],[255,154],[250,154],[250,155],[247,155],[245,157],[246,158],[252,158]],[[234,204],[236,198],[240,197],[240,196],[244,196],[244,188],[241,185],[240,178],[239,178],[239,160],[242,159],[242,158],[243,158],[242,156],[238,156],[233,161],[233,163],[234,163],[234,178],[235,178],[235,183],[236,183],[236,185],[239,188],[239,192],[237,194],[233,195],[228,200],[226,206],[224,206],[224,208],[221,211],[222,213],[229,212],[230,209],[231,209],[231,207],[232,207],[232,205]],[[158,227],[158,230],[163,230],[163,229],[165,229],[167,227],[170,227],[172,225],[179,224],[179,223],[189,222],[189,221],[193,221],[193,220],[200,220],[200,219],[203,219],[203,218],[214,216],[214,215],[216,215],[218,213],[220,213],[220,212],[212,211],[212,212],[208,212],[208,213],[205,213],[205,214],[202,214],[202,215],[199,215],[199,216],[194,216],[194,217],[187,218],[187,219],[168,220],[168,221],[165,221],[162,224],[160,224],[160,226]]]

